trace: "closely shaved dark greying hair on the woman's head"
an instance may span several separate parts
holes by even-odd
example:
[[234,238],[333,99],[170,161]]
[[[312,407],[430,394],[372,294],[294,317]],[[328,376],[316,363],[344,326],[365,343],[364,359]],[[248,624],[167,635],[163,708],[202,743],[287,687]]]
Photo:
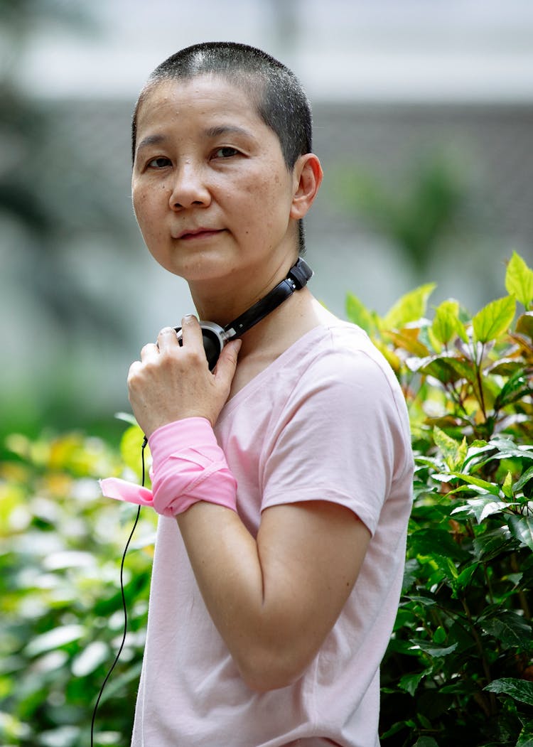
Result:
[[[166,80],[190,80],[196,75],[210,73],[225,78],[249,94],[261,120],[277,135],[289,171],[293,170],[300,155],[311,152],[311,105],[292,70],[267,52],[246,44],[203,42],[175,52],[149,76],[134,110],[132,160],[135,157],[140,105],[152,87]],[[299,251],[305,251],[302,220],[299,220]]]

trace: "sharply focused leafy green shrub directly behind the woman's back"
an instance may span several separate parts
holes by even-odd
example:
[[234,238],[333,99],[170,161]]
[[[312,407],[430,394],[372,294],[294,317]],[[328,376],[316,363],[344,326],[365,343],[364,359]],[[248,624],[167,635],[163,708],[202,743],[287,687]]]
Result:
[[432,321],[433,285],[382,319],[348,300],[402,383],[416,456],[384,747],[533,744],[533,272],[516,253],[505,287]]

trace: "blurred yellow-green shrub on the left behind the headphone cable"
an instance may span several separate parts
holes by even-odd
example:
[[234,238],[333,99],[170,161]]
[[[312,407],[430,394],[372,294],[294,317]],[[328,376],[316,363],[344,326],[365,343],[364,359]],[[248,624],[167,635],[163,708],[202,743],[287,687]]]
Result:
[[[77,433],[7,439],[0,473],[4,747],[90,744],[96,695],[122,641],[119,566],[136,515],[134,506],[102,499],[97,479],[131,478],[141,439],[128,428],[122,453]],[[130,742],[154,522],[143,512],[125,562],[128,635],[99,707],[96,745]]]

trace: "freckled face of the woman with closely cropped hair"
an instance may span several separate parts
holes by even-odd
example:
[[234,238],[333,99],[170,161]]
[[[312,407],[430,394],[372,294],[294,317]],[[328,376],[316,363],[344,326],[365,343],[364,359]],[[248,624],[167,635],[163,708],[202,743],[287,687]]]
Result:
[[268,285],[297,255],[290,172],[277,135],[224,78],[156,84],[140,105],[132,195],[143,238],[191,283]]

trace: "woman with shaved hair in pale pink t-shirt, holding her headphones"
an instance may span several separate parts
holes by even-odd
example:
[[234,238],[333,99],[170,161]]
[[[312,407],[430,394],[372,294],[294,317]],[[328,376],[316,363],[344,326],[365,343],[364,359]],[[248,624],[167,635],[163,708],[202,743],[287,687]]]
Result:
[[132,745],[373,747],[412,456],[393,372],[296,264],[322,179],[305,93],[264,52],[196,45],[152,73],[133,134],[140,230],[199,319],[231,329],[293,285],[213,371],[194,316],[131,365],[138,500],[162,515]]

